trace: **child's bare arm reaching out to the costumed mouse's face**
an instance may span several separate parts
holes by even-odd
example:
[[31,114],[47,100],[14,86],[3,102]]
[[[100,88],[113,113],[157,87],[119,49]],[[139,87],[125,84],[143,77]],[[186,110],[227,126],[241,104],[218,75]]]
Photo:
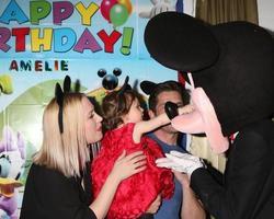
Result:
[[[192,111],[193,111],[192,105],[186,105],[178,108],[179,115],[191,113]],[[168,125],[169,123],[170,119],[165,113],[160,114],[159,116],[156,116],[149,120],[142,120],[136,123],[133,132],[134,142],[136,143],[140,142],[140,138],[144,134],[155,130],[156,128],[159,128],[161,126]]]

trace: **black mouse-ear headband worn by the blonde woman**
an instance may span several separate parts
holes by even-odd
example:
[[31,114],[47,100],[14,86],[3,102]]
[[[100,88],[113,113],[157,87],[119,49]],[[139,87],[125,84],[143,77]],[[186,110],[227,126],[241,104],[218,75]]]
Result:
[[[64,122],[62,122],[62,111],[64,111],[64,96],[68,93],[70,93],[70,87],[71,87],[71,79],[69,76],[65,77],[64,80],[64,84],[62,88],[60,87],[60,84],[57,82],[55,85],[55,97],[56,97],[56,102],[59,106],[59,112],[58,112],[58,125],[59,125],[59,130],[60,134],[64,132]],[[76,82],[76,93],[79,93],[80,90],[80,81],[77,80]]]

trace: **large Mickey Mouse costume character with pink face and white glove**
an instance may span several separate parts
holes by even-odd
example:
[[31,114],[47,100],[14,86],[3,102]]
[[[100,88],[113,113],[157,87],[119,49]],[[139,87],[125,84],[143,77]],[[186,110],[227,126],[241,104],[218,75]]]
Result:
[[173,127],[205,132],[217,153],[229,148],[219,177],[186,153],[171,152],[157,161],[158,166],[186,173],[217,219],[273,218],[274,41],[269,32],[249,22],[209,25],[165,12],[148,22],[145,43],[152,58],[184,72],[193,87],[195,111],[174,117]]

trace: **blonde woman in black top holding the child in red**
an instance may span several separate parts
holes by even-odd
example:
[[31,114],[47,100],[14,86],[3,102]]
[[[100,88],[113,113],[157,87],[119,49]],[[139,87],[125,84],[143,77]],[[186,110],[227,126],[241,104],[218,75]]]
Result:
[[[56,93],[44,112],[43,145],[27,176],[20,218],[102,219],[119,183],[146,169],[145,155],[140,151],[129,155],[123,152],[100,195],[88,205],[82,182],[90,161],[87,146],[101,140],[102,117],[85,95],[60,88]],[[158,207],[152,204],[151,212]]]

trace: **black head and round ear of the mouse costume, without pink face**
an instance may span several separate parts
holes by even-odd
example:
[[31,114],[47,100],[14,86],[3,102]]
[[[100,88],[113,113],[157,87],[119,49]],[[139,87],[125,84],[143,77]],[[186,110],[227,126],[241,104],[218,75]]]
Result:
[[212,26],[164,12],[148,22],[145,43],[163,66],[192,72],[195,87],[210,99],[225,136],[273,114],[274,41],[264,28],[248,22]]

